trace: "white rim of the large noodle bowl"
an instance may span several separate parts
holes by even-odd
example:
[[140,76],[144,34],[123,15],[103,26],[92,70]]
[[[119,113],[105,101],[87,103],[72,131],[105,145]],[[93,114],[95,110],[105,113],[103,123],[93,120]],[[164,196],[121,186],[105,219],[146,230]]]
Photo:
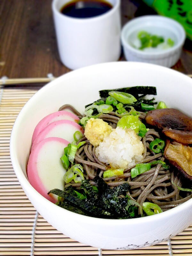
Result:
[[[65,212],[66,215],[73,215],[74,218],[76,218],[78,216],[78,218],[82,219],[82,221],[86,220],[86,222],[88,222],[88,223],[92,223],[92,221],[98,221],[100,224],[105,224],[107,222],[108,225],[111,224],[111,225],[115,225],[115,226],[118,226],[120,223],[128,225],[129,223],[138,224],[138,223],[143,223],[143,222],[145,222],[145,223],[156,222],[156,220],[169,218],[174,214],[177,214],[179,212],[185,211],[186,209],[189,209],[189,206],[192,206],[192,198],[190,198],[188,201],[186,201],[172,209],[169,209],[168,211],[162,212],[161,214],[155,214],[155,215],[151,215],[151,216],[145,216],[144,218],[140,217],[140,218],[133,218],[133,219],[107,219],[107,218],[105,219],[105,218],[96,218],[96,217],[81,215],[81,214],[63,209],[63,208],[59,207],[58,205],[53,204],[48,199],[46,199],[44,196],[39,194],[36,191],[36,189],[33,188],[32,185],[29,183],[29,181],[28,181],[27,177],[25,176],[24,172],[22,171],[19,161],[16,157],[15,150],[14,150],[14,147],[15,147],[14,142],[15,142],[15,138],[16,138],[15,136],[17,134],[17,130],[19,129],[19,126],[20,126],[20,119],[22,119],[22,114],[23,114],[23,112],[25,112],[26,106],[30,105],[31,101],[33,101],[39,94],[42,94],[44,92],[44,90],[47,90],[47,88],[54,86],[55,84],[58,83],[58,81],[62,81],[63,77],[70,78],[70,76],[73,76],[74,74],[76,74],[78,72],[81,72],[84,70],[89,71],[89,69],[92,70],[93,68],[97,68],[98,66],[100,66],[102,69],[104,69],[106,66],[110,66],[110,65],[119,65],[119,66],[127,65],[127,67],[129,67],[129,66],[137,67],[138,64],[141,66],[148,67],[148,68],[164,70],[173,75],[175,74],[177,76],[182,76],[184,79],[190,81],[190,83],[192,84],[192,80],[190,77],[186,76],[183,73],[180,73],[179,71],[176,71],[176,70],[173,70],[170,68],[166,68],[163,66],[159,66],[159,65],[155,65],[155,64],[151,64],[151,63],[131,62],[131,61],[129,61],[129,62],[127,62],[127,61],[108,62],[108,63],[95,64],[95,65],[91,65],[88,67],[79,68],[79,69],[70,71],[62,76],[59,76],[58,78],[56,78],[56,79],[52,80],[51,82],[49,82],[48,84],[44,85],[40,90],[38,90],[27,101],[27,103],[23,106],[23,108],[21,109],[19,115],[17,116],[17,118],[15,120],[15,123],[12,128],[12,132],[11,132],[11,138],[10,138],[10,156],[11,156],[12,166],[13,166],[14,172],[16,173],[16,176],[19,177],[18,180],[19,180],[23,190],[25,191],[25,193],[27,195],[29,195],[30,193],[34,193],[35,196],[37,196],[39,198],[39,202],[40,203],[42,202],[42,204],[44,204],[44,206],[46,205],[47,207],[50,207],[52,205],[52,207],[54,207],[55,210]],[[39,210],[37,209],[37,211],[39,211]],[[40,214],[41,214],[41,212],[40,212]]]

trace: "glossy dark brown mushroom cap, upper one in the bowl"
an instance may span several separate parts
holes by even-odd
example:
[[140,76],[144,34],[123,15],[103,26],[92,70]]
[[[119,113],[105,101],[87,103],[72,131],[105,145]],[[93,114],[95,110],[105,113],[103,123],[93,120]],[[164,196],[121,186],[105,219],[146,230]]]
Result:
[[148,111],[148,124],[161,129],[172,140],[183,144],[192,144],[192,118],[174,108],[163,108]]

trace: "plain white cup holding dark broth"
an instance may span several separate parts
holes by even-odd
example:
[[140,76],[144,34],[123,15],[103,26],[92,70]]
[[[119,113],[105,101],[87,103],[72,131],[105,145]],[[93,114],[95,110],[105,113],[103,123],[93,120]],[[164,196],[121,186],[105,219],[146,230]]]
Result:
[[107,0],[112,8],[92,18],[73,18],[60,9],[69,0],[53,0],[52,11],[62,63],[70,69],[118,60],[121,52],[120,0]]

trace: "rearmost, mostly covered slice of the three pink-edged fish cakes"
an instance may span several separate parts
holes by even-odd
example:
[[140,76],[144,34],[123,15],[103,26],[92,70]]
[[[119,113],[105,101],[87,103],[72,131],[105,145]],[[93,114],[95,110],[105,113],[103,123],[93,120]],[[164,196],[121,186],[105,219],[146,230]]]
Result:
[[79,117],[76,116],[75,114],[65,111],[65,110],[61,110],[61,111],[57,111],[54,112],[52,114],[49,114],[47,116],[45,116],[35,127],[35,130],[33,132],[33,136],[32,136],[32,144],[34,142],[34,140],[36,139],[37,135],[44,130],[44,128],[55,122],[58,120],[71,120],[73,122],[78,122],[79,121]]

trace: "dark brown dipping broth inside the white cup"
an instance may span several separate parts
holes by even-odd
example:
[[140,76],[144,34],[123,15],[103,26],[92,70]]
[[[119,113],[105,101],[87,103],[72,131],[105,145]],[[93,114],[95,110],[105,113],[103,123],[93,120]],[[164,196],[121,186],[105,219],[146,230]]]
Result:
[[106,1],[71,1],[65,4],[60,12],[74,18],[91,18],[108,12],[112,7],[112,4]]

